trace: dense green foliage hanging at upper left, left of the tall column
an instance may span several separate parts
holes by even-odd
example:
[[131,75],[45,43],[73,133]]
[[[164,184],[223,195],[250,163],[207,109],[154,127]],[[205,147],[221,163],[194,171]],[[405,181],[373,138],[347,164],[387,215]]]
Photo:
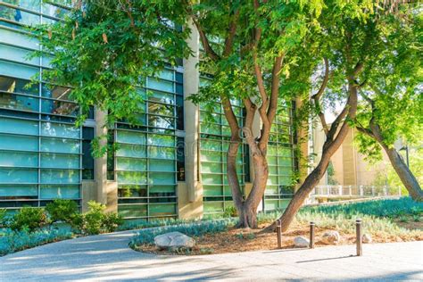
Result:
[[108,112],[109,125],[118,119],[135,122],[145,78],[157,77],[166,65],[175,66],[190,54],[189,29],[182,29],[187,5],[169,0],[83,2],[76,2],[64,21],[33,29],[42,53],[54,54],[53,69],[43,76],[73,87],[71,98],[83,110],[79,122],[94,105]]

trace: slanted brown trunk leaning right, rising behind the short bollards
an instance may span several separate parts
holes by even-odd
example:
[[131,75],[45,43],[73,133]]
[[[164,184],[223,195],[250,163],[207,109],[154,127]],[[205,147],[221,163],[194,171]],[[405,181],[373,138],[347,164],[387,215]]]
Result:
[[[347,117],[352,119],[355,118],[355,113],[357,112],[357,86],[355,86],[352,81],[349,83],[349,97],[343,112],[348,112]],[[279,220],[281,220],[282,232],[285,232],[289,228],[292,221],[294,220],[295,214],[298,212],[298,210],[300,210],[305,199],[310,195],[312,189],[316,187],[316,185],[319,183],[319,180],[324,176],[325,171],[328,169],[330,158],[334,153],[336,153],[336,150],[344,142],[344,139],[348,134],[348,130],[350,129],[346,121],[343,122],[341,129],[339,129],[336,134],[338,124],[340,124],[342,119],[344,119],[343,112],[339,114],[328,131],[327,139],[323,145],[319,164],[314,170],[311,171],[309,176],[305,178],[303,185],[295,192],[293,199],[286,207],[286,210],[282,216],[279,218]],[[270,228],[275,228],[275,223],[273,223]]]

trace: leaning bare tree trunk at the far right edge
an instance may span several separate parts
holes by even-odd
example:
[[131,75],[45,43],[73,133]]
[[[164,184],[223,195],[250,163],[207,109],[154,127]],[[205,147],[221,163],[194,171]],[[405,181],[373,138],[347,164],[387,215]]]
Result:
[[[364,130],[361,130],[361,132],[363,131]],[[407,189],[407,191],[409,191],[411,198],[413,198],[415,201],[422,202],[423,191],[421,190],[421,187],[419,186],[419,182],[414,177],[409,167],[407,167],[407,165],[405,164],[401,154],[398,153],[394,148],[390,148],[385,144],[384,137],[382,136],[382,129],[380,129],[379,125],[375,122],[375,119],[370,120],[370,131],[373,136],[369,134],[368,135],[370,137],[375,138],[377,142],[379,143],[379,145],[381,145],[382,148],[384,148],[386,154],[389,157],[389,161],[394,167],[396,174],[401,179],[402,184]],[[364,132],[366,133],[366,131]]]

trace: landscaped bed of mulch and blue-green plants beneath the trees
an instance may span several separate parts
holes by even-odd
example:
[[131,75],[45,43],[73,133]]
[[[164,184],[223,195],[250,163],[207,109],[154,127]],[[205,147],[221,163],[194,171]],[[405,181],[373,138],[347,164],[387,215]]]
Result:
[[[181,228],[156,228],[153,232],[142,230],[133,238],[130,246],[140,252],[160,254],[208,254],[236,253],[257,250],[275,250],[278,239],[275,232],[265,228],[278,217],[277,212],[261,214],[258,229],[239,229],[235,220],[215,221],[201,232],[202,223],[185,224]],[[336,230],[340,236],[338,245],[355,244],[355,220],[363,222],[364,234],[371,236],[372,243],[404,242],[423,240],[423,203],[410,198],[378,200],[366,203],[348,203],[331,206],[304,207],[296,216],[294,224],[282,235],[282,248],[293,248],[296,236],[309,237],[309,222],[316,223],[315,246],[326,246],[321,242],[323,234]],[[179,231],[195,239],[192,248],[159,249],[154,245],[154,236]]]

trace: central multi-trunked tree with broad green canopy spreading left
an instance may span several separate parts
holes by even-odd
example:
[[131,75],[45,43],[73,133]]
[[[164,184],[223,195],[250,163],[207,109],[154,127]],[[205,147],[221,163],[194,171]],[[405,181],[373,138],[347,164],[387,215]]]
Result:
[[[313,1],[77,1],[64,23],[38,27],[44,52],[54,54],[47,77],[73,87],[83,109],[99,106],[108,125],[139,112],[142,79],[155,76],[165,63],[175,64],[191,50],[186,39],[193,22],[206,59],[202,71],[211,84],[192,95],[195,103],[220,100],[231,131],[227,154],[231,187],[240,227],[257,227],[256,212],[266,188],[270,129],[278,112],[281,79],[296,60],[295,48],[311,36],[322,2]],[[180,28],[180,29],[179,29]],[[217,43],[211,42],[214,38]],[[232,101],[242,100],[241,128]],[[253,120],[261,120],[260,137]],[[81,120],[84,116],[81,117]],[[135,120],[134,120],[135,122]],[[244,198],[236,172],[243,139],[253,156],[254,180]]]

